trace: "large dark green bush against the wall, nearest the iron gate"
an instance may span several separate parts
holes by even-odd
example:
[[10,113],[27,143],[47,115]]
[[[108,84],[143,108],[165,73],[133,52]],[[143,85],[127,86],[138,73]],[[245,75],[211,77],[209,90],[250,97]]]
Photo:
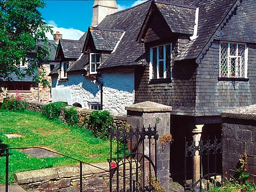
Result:
[[106,139],[109,138],[110,129],[113,126],[113,117],[110,112],[93,111],[88,117],[87,129],[90,130],[95,137]]

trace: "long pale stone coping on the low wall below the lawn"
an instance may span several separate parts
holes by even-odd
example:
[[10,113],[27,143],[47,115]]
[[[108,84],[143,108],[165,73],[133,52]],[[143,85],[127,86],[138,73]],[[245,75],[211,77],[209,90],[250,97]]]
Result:
[[[82,174],[98,174],[109,171],[108,162],[93,163],[91,165],[82,165]],[[51,180],[62,177],[76,177],[80,175],[80,167],[76,166],[60,166],[57,168],[46,168],[32,171],[16,172],[15,180],[19,185],[26,183],[40,182],[43,180]]]

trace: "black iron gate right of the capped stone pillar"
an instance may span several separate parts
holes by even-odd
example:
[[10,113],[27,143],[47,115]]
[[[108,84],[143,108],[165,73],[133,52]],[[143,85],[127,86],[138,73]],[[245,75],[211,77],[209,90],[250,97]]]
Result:
[[[199,156],[200,179],[194,180],[194,157]],[[209,190],[222,183],[222,140],[187,141],[185,138],[185,191]]]

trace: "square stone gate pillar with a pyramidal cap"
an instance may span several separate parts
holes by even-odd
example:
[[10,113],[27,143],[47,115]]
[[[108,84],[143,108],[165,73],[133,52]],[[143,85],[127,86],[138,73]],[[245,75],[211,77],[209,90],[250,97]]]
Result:
[[[160,139],[165,134],[170,134],[171,131],[171,110],[172,108],[167,105],[157,104],[155,102],[145,101],[138,104],[126,107],[127,110],[127,123],[133,128],[138,127],[157,127],[159,135],[157,141],[157,179],[160,180],[161,187],[165,191],[169,191],[169,163],[170,163],[170,149],[169,143],[165,148],[162,148]],[[145,154],[148,153],[144,149]],[[155,160],[154,160],[155,162]]]

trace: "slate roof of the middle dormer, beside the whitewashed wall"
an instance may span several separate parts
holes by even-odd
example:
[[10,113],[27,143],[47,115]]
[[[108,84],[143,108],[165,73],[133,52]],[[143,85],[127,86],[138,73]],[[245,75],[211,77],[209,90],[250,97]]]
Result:
[[87,50],[88,38],[91,37],[96,50],[113,51],[118,41],[121,40],[123,33],[124,30],[89,27],[88,37],[85,41],[84,50]]

